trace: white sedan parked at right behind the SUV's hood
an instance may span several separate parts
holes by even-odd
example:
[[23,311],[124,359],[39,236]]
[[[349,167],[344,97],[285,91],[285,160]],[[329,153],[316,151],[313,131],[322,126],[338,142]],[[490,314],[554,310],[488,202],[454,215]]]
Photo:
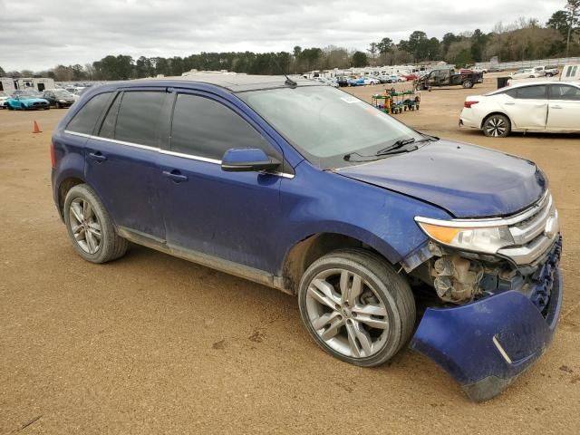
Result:
[[525,82],[465,99],[459,126],[503,138],[510,131],[580,131],[580,82]]

